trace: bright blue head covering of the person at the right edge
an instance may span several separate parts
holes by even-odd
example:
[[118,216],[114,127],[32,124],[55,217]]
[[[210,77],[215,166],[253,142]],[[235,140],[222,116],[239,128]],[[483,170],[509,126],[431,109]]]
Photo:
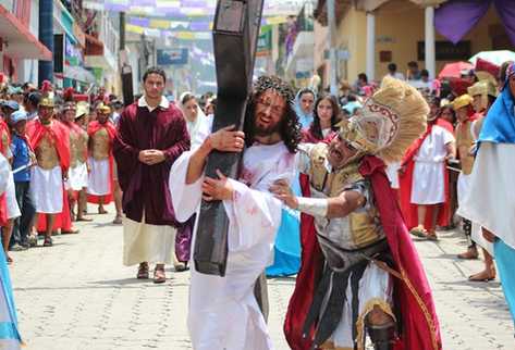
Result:
[[508,87],[512,76],[515,76],[515,63],[507,66],[504,87],[488,110],[479,134],[478,140],[481,142],[515,143],[515,97]]

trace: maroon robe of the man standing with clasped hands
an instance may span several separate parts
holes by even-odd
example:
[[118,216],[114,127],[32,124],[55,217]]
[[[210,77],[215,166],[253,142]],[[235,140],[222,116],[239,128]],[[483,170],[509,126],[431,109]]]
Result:
[[[162,150],[167,160],[156,165],[139,162],[139,151],[148,149]],[[145,223],[177,226],[168,182],[173,162],[188,149],[186,122],[175,104],[150,112],[136,101],[122,112],[113,153],[128,218],[142,222],[145,209]]]

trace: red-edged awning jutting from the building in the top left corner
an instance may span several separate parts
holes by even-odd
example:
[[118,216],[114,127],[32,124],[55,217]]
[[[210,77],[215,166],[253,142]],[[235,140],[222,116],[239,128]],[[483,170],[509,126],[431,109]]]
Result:
[[52,60],[52,52],[3,5],[0,5],[0,38],[3,52],[12,59]]

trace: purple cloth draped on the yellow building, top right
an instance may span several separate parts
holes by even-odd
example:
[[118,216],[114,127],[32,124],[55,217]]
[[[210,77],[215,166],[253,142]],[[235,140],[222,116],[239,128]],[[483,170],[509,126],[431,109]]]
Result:
[[487,14],[494,3],[506,33],[515,45],[515,7],[513,0],[454,0],[443,3],[434,12],[438,33],[457,43]]

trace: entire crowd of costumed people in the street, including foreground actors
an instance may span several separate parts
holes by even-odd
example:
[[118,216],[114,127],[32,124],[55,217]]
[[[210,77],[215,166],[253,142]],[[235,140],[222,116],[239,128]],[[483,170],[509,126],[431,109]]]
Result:
[[[439,350],[410,237],[439,240],[437,228],[453,228],[459,215],[469,245],[458,258],[478,259],[479,249],[485,257],[469,279],[495,278],[496,260],[515,318],[513,199],[499,188],[513,182],[491,192],[481,183],[510,162],[511,149],[495,147],[515,141],[514,64],[478,61],[442,82],[416,62],[408,67],[405,77],[391,64],[380,85],[360,74],[340,96],[318,86],[295,93],[278,77],[259,77],[243,130],[211,130],[212,95],[169,101],[158,67],[126,108],[103,90],[84,98],[48,82],[39,90],[10,86],[0,122],[0,165],[10,163],[0,170],[12,174],[0,183],[3,262],[12,262],[10,249],[37,245],[38,234],[50,247],[57,232],[77,233],[73,222],[90,220],[87,202],[106,214],[114,201],[123,263],[137,265],[142,279],[155,264],[154,283],[162,284],[165,264],[187,270],[200,201],[220,200],[230,218],[228,266],[223,277],[191,268],[195,349],[272,348],[255,289],[266,270],[298,274],[284,325],[294,349],[364,349],[368,335],[375,349]],[[243,152],[236,179],[205,175],[213,151]],[[506,202],[492,203],[493,195]]]

